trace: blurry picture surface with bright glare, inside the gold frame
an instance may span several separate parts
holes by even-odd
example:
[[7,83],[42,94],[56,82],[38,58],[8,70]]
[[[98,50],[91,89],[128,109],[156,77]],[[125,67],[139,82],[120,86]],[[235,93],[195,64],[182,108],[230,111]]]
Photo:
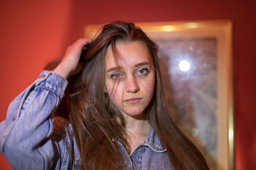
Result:
[[215,38],[155,39],[166,105],[180,129],[217,169]]

